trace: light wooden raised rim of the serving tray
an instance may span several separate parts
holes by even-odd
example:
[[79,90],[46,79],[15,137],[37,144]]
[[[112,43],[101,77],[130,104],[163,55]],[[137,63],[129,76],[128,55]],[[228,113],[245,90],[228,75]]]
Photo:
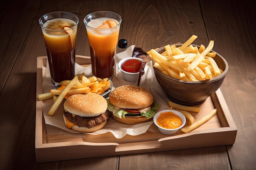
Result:
[[[90,63],[90,57],[76,55],[77,58],[81,61],[85,61],[84,64]],[[43,60],[47,57],[37,57],[37,79],[36,79],[36,95],[43,92]],[[46,128],[43,119],[43,110],[42,104],[43,101],[36,101],[36,131],[35,131],[35,150],[36,150],[36,159],[37,162],[49,162],[49,161],[61,161],[61,160],[70,160],[70,159],[82,159],[82,158],[91,158],[91,157],[103,157],[103,156],[114,156],[114,155],[127,155],[127,154],[135,154],[135,153],[145,153],[145,152],[157,152],[157,151],[167,151],[167,150],[177,150],[177,149],[188,149],[188,148],[200,148],[200,147],[209,147],[209,146],[222,146],[222,145],[232,145],[236,139],[237,128],[236,124],[231,116],[229,108],[225,102],[225,99],[222,95],[220,89],[216,91],[213,95],[211,95],[211,99],[213,101],[214,106],[217,108],[218,118],[221,124],[225,124],[226,127],[221,128],[213,128],[207,130],[196,130],[190,133],[185,133],[176,136],[168,136],[163,137],[158,140],[153,141],[139,141],[131,143],[122,143],[118,142],[102,142],[102,143],[93,143],[86,141],[63,141],[63,142],[55,142],[55,143],[47,143],[46,136]],[[209,133],[211,134],[209,138]],[[229,138],[227,138],[229,135]],[[204,139],[207,137],[207,139]],[[225,138],[225,141],[221,141],[218,139],[216,141],[216,137]],[[192,141],[192,145],[182,145],[184,143],[183,138],[189,139]],[[198,142],[196,139],[204,139],[204,141]],[[212,142],[211,140],[215,141]],[[169,146],[168,143],[172,141],[177,141],[179,146]],[[185,144],[185,143],[184,143]],[[92,153],[95,152],[94,149],[97,147],[97,150],[100,150],[100,153]],[[68,148],[68,151],[63,151],[63,148]],[[88,148],[90,148],[88,150]],[[94,149],[93,149],[94,148]],[[101,149],[99,149],[101,148]],[[77,151],[74,154],[70,154],[71,150],[81,150],[85,149],[88,152],[92,150],[88,155],[79,153]],[[52,150],[55,151],[55,154],[51,157],[46,157],[49,153],[52,153]],[[102,150],[105,150],[102,152]],[[63,153],[69,153],[68,156],[61,156]]]

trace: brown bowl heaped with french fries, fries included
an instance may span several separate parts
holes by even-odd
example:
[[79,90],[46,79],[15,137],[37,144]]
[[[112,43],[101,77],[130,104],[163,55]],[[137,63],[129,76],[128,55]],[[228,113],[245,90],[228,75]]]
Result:
[[184,44],[148,51],[157,82],[166,95],[187,106],[202,104],[215,93],[228,71],[225,58],[212,50],[214,41],[207,47],[191,44],[196,38],[193,35]]

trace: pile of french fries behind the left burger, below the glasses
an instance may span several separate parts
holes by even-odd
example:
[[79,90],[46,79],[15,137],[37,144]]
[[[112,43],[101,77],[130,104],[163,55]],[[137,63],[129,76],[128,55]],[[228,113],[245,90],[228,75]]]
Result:
[[53,105],[50,108],[48,115],[54,115],[58,106],[63,99],[67,99],[70,95],[97,93],[101,95],[110,88],[110,81],[108,78],[101,79],[99,77],[86,77],[85,73],[76,75],[72,80],[64,80],[60,82],[60,87],[51,89],[48,93],[38,95],[38,100],[45,100],[53,98]]

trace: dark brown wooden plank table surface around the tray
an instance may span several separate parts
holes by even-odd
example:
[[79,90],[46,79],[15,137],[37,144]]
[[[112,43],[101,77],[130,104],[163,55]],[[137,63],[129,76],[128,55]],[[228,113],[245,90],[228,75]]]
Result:
[[[119,38],[144,51],[214,40],[229,63],[222,94],[237,126],[234,145],[37,163],[35,154],[36,60],[46,56],[38,19],[51,11],[79,17],[76,54],[89,56],[83,18],[93,11],[119,13]],[[256,167],[256,5],[253,0],[13,0],[1,2],[0,169],[126,170]],[[120,52],[118,49],[117,52]]]

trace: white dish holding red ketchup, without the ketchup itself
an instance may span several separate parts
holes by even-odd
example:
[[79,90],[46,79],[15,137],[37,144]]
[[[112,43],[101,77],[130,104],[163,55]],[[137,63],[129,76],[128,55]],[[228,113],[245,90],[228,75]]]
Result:
[[143,60],[142,59],[140,59],[140,58],[137,58],[137,57],[127,57],[127,58],[124,58],[124,59],[122,59],[122,60],[120,60],[119,62],[118,62],[118,68],[119,68],[119,70],[121,70],[121,72],[122,72],[122,74],[123,74],[123,77],[124,77],[124,79],[127,81],[127,82],[137,82],[138,81],[138,78],[139,78],[139,72],[136,72],[136,73],[129,73],[129,72],[127,72],[127,71],[124,71],[123,69],[122,69],[122,64],[124,63],[124,62],[126,62],[127,60],[138,60],[138,61],[140,61],[140,62],[142,62]]

